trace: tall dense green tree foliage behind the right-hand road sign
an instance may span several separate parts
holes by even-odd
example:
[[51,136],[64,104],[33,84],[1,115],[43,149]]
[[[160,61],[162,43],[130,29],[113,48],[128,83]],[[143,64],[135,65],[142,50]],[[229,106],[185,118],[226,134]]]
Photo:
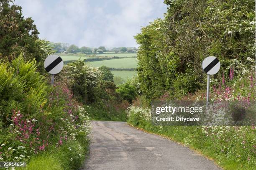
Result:
[[[156,19],[135,36],[138,77],[148,99],[172,96],[205,86],[201,63],[216,56],[222,70],[230,59],[255,58],[255,0],[165,0],[164,19]],[[227,76],[227,75],[225,75]]]

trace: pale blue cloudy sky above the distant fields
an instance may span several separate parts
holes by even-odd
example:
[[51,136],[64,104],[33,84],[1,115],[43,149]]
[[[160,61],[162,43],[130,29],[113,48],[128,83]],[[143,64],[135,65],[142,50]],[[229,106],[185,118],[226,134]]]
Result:
[[164,0],[15,0],[39,38],[79,47],[137,47],[141,27],[163,18]]

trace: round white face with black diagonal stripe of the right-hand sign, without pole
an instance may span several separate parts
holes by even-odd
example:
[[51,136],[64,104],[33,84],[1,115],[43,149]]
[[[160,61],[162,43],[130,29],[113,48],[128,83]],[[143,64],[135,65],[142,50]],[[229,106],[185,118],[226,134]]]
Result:
[[220,61],[214,56],[206,57],[202,62],[202,69],[206,74],[216,74],[220,70]]

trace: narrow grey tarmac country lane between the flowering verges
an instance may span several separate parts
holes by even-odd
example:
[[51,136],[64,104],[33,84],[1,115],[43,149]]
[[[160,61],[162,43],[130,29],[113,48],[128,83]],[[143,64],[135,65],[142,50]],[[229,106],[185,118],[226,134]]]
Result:
[[187,147],[125,122],[92,121],[92,126],[83,170],[220,170]]

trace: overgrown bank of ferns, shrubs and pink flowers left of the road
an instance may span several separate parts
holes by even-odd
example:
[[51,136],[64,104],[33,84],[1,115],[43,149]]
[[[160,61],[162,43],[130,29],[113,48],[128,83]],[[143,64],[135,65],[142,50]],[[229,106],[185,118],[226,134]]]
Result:
[[94,68],[81,54],[51,86],[43,63],[56,51],[38,38],[33,20],[6,0],[0,2],[0,25],[0,161],[27,162],[16,168],[22,170],[79,169],[90,120],[126,121],[126,96],[116,91],[108,67]]

